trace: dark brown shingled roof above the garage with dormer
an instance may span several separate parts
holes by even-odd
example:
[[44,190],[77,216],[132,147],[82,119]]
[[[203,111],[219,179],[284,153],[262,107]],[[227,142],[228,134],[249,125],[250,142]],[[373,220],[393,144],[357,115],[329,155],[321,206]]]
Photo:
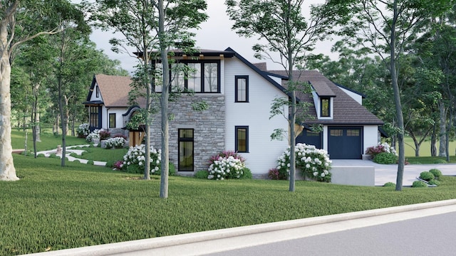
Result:
[[[268,70],[269,75],[287,76],[284,70]],[[323,76],[317,70],[296,70],[293,73],[294,80],[299,82],[310,82],[319,96],[333,97],[333,119],[316,119],[315,107],[309,109],[308,114],[315,117],[306,121],[306,124],[340,124],[340,125],[362,125],[362,124],[383,124],[374,114],[360,105],[356,100],[347,95],[341,88]],[[286,87],[287,80],[282,80],[282,86]],[[301,101],[314,104],[312,95],[297,92],[296,97]]]

